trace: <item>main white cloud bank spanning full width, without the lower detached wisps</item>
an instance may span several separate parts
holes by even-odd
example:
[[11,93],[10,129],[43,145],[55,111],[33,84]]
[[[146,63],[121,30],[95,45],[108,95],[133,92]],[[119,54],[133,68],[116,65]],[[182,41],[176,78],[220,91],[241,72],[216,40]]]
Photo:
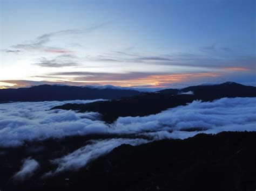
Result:
[[20,146],[28,140],[90,134],[136,134],[153,139],[187,138],[204,133],[256,131],[256,98],[222,98],[194,101],[145,117],[120,117],[111,125],[96,120],[95,112],[49,110],[65,102],[17,102],[0,104],[0,146]]

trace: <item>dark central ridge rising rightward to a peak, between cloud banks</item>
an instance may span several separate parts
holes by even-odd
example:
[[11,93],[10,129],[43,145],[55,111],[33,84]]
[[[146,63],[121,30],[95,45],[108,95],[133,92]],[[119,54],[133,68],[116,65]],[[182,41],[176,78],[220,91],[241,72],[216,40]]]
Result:
[[191,103],[194,100],[212,101],[223,97],[256,97],[256,87],[225,82],[211,86],[165,89],[156,93],[144,93],[120,100],[99,101],[87,104],[64,104],[52,109],[99,112],[102,114],[104,121],[112,123],[118,117],[157,114],[169,108]]

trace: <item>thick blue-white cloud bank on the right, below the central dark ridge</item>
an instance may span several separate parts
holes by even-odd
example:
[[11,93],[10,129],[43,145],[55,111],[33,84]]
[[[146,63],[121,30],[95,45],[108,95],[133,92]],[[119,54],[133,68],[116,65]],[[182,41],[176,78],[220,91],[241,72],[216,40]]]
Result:
[[[255,131],[256,98],[221,98],[213,102],[194,101],[145,117],[119,117],[114,129],[126,133],[140,133],[157,138],[159,131],[169,138],[187,138],[195,135],[190,129],[204,133],[221,131]],[[243,112],[240,112],[243,111]],[[157,134],[155,134],[157,132]],[[156,136],[156,137],[155,137]]]

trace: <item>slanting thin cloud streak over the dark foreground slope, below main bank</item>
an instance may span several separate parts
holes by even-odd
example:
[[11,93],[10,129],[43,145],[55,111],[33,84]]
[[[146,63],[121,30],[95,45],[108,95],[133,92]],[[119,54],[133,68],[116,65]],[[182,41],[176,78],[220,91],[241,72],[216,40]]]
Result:
[[113,138],[105,140],[91,140],[91,143],[79,148],[78,150],[65,155],[62,158],[52,160],[53,164],[57,164],[58,167],[55,171],[46,173],[44,176],[54,175],[63,171],[75,171],[84,167],[90,161],[97,159],[101,155],[107,154],[114,148],[122,145],[139,145],[148,143],[146,139],[125,139],[125,138]]

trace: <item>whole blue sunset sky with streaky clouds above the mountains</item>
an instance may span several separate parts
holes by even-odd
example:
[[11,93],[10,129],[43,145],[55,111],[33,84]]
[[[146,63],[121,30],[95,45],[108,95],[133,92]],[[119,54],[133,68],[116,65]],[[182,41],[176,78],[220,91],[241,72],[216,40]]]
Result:
[[256,85],[254,0],[0,0],[0,88]]

